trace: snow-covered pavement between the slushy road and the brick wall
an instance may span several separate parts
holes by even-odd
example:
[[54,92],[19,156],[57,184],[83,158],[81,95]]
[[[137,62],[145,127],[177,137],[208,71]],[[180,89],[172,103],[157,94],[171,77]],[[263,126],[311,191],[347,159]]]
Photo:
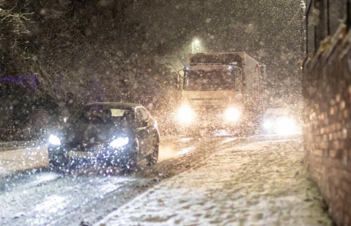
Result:
[[223,149],[95,225],[331,225],[303,167],[302,137]]

